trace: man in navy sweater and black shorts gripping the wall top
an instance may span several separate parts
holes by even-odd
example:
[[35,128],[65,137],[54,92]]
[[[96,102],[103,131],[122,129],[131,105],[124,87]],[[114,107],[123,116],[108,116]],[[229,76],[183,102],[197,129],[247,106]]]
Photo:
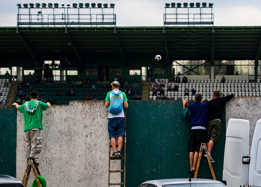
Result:
[[191,168],[189,174],[194,176],[201,143],[207,142],[207,104],[203,103],[201,93],[196,93],[195,102],[189,104],[186,110],[185,105],[188,100],[182,100],[182,102],[182,115],[184,118],[189,118],[189,127],[191,128],[188,141],[189,162]]

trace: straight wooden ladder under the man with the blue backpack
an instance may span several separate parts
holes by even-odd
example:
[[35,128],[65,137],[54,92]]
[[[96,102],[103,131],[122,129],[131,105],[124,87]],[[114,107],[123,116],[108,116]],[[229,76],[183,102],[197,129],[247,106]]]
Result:
[[[122,145],[122,148],[124,147],[124,157],[122,157],[121,159],[111,159],[111,143],[109,141],[109,172],[108,172],[108,187],[110,187],[110,185],[124,185],[125,187],[125,181],[126,181],[126,112],[125,112],[125,130],[124,130],[124,144]],[[116,147],[118,147],[118,145],[116,145]],[[124,159],[124,170],[111,170],[110,169],[110,163],[111,160],[123,160]],[[124,172],[124,182],[123,183],[110,183],[110,173],[116,173],[116,172]]]

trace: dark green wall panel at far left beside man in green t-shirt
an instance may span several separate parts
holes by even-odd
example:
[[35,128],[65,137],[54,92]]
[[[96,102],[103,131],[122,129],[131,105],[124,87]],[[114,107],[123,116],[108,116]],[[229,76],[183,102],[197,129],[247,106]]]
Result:
[[16,177],[15,107],[0,106],[0,174]]

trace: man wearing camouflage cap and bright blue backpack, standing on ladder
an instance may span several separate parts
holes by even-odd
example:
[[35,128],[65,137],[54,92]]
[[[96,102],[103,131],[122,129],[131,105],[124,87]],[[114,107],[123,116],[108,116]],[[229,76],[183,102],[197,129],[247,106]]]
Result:
[[[108,132],[113,149],[111,159],[120,159],[122,158],[121,148],[125,131],[123,107],[128,108],[129,105],[125,93],[119,90],[120,83],[113,81],[111,85],[112,91],[108,92],[105,98],[105,108],[109,108]],[[118,152],[116,152],[116,135],[118,136]]]

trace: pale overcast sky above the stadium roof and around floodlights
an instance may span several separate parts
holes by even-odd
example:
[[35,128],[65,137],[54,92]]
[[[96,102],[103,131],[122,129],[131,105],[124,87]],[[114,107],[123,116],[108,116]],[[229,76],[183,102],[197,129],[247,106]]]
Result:
[[[88,1],[81,1],[88,3]],[[71,0],[52,1],[25,1],[25,0],[0,0],[0,26],[16,26],[16,16],[18,13],[18,3],[59,3],[71,4],[79,3]],[[196,3],[196,1],[161,1],[161,0],[92,0],[89,3],[115,3],[115,14],[117,17],[116,26],[163,26],[163,14],[165,13],[165,3]],[[261,25],[261,0],[211,0],[197,1],[214,3],[214,26],[260,26]],[[170,10],[170,9],[169,9]]]

